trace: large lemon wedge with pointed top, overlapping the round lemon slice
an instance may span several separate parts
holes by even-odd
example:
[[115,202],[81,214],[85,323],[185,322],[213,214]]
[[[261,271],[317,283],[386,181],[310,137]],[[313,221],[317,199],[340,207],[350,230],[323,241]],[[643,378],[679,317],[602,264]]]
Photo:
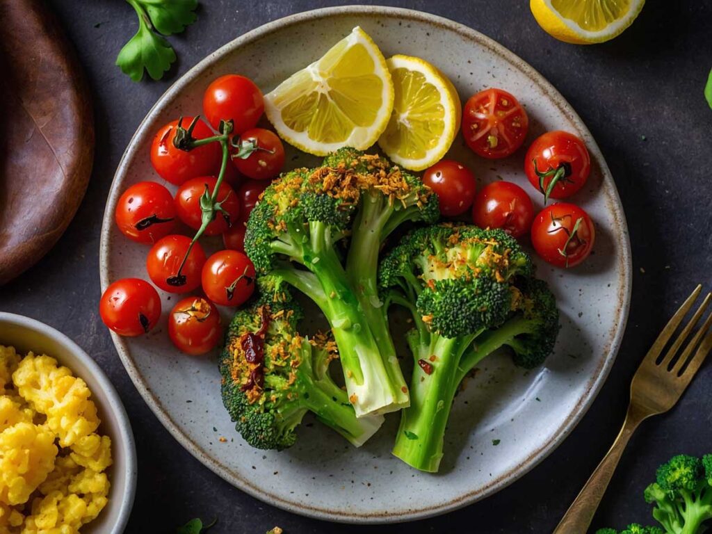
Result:
[[366,150],[388,123],[393,84],[386,60],[359,26],[265,97],[267,118],[290,145],[325,156]]

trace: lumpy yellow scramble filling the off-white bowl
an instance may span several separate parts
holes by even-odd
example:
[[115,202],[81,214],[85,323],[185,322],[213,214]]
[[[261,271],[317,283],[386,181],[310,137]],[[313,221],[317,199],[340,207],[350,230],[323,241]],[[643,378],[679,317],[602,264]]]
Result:
[[0,345],[0,534],[75,534],[108,501],[111,439],[87,384]]

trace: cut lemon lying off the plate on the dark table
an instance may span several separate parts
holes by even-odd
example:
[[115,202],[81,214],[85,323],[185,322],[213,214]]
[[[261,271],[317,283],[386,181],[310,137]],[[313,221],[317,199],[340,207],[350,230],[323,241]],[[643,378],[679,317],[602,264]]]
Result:
[[618,36],[643,9],[645,0],[530,0],[546,33],[575,44],[602,43]]

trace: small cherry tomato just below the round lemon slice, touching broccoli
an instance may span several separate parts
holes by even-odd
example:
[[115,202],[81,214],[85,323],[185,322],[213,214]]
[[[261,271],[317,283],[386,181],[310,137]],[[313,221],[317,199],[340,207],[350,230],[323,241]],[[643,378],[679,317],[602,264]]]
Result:
[[452,159],[441,159],[426,169],[423,183],[437,193],[440,213],[446,217],[467,211],[475,197],[475,175]]

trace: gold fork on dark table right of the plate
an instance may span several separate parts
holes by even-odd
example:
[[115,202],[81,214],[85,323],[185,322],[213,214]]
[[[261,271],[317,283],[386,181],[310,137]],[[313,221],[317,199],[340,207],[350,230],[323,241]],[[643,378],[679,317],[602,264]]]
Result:
[[[660,357],[675,330],[677,330],[683,318],[692,308],[695,300],[697,300],[701,290],[702,286],[695,288],[680,306],[680,309],[673,315],[670,322],[665,325],[665,328],[645,355],[630,385],[630,404],[628,405],[628,413],[626,414],[623,428],[616,441],[613,442],[608,454],[598,464],[581,493],[578,494],[576,500],[566,511],[563,519],[554,530],[554,534],[586,534],[630,436],[644,419],[651,415],[667,412],[675,405],[682,392],[691,382],[692,377],[695,376],[702,365],[707,353],[710,352],[712,348],[712,331],[710,330],[712,313],[708,315],[701,328],[697,330],[692,340],[684,347],[679,357],[676,357],[685,340],[707,309],[707,305],[712,298],[712,293],[707,293],[690,322],[682,329],[665,356]],[[691,357],[690,355],[696,347],[697,350]]]

